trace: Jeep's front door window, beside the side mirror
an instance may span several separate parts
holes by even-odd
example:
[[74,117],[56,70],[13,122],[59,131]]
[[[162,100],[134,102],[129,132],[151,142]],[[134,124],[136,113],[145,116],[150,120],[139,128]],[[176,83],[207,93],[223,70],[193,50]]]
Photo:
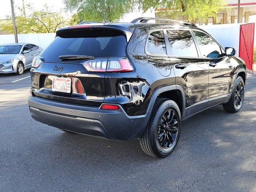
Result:
[[220,46],[207,34],[193,31],[199,43],[202,57],[218,58],[222,55]]

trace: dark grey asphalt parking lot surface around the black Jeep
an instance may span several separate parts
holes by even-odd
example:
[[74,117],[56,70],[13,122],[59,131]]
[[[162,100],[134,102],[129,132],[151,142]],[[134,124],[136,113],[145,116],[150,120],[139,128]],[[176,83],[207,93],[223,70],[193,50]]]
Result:
[[[242,110],[215,106],[182,125],[164,159],[138,140],[110,141],[32,120],[29,70],[0,75],[0,191],[256,191],[256,75]],[[28,78],[27,78],[28,77]]]

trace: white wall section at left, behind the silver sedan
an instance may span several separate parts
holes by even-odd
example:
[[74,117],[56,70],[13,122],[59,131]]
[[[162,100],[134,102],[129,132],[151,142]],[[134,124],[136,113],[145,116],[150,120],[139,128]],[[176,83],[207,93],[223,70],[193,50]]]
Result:
[[[19,43],[32,43],[46,48],[55,38],[55,33],[18,34]],[[0,45],[14,43],[14,35],[0,35]]]

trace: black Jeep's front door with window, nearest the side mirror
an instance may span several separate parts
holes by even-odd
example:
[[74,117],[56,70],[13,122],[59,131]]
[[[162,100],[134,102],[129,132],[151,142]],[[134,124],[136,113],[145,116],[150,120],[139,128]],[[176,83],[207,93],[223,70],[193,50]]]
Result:
[[231,92],[232,71],[230,58],[223,48],[208,34],[193,30],[194,36],[205,63],[209,66],[209,103],[208,107],[228,100]]

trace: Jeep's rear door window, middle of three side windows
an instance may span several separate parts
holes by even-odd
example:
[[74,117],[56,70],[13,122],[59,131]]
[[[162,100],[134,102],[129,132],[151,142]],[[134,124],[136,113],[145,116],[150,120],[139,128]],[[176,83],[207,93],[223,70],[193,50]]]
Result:
[[198,57],[195,42],[188,30],[167,30],[173,56]]

